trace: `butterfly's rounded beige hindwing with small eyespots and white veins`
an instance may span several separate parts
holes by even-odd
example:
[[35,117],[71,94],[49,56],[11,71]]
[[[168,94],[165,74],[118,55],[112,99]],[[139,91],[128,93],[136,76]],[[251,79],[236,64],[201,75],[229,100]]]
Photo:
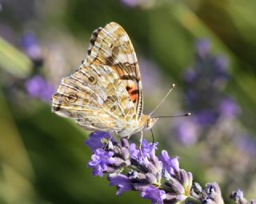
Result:
[[107,65],[82,65],[62,79],[52,101],[53,112],[92,131],[120,131],[136,116],[122,80]]

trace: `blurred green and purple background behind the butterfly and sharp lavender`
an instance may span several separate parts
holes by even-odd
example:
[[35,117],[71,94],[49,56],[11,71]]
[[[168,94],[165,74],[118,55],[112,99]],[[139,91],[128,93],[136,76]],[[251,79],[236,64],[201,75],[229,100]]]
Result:
[[256,198],[255,10],[254,0],[1,0],[0,203],[149,203],[92,177],[90,132],[50,112],[61,78],[107,22],[133,41],[145,112],[173,83],[155,116],[192,112],[158,120],[159,151],[178,155],[202,186],[218,182],[226,203],[238,188]]

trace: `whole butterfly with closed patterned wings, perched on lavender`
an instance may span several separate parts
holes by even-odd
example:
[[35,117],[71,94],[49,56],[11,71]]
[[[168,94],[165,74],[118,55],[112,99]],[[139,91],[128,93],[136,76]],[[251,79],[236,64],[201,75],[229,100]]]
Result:
[[82,65],[52,96],[52,112],[86,130],[130,137],[158,120],[142,110],[142,80],[128,34],[116,22],[95,29]]

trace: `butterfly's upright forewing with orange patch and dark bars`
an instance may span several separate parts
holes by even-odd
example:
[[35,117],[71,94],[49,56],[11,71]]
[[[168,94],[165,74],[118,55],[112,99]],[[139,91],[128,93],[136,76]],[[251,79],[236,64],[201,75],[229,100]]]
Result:
[[118,74],[133,101],[136,120],[140,120],[143,108],[142,81],[136,53],[126,31],[115,22],[95,29],[87,53],[84,65],[108,65]]

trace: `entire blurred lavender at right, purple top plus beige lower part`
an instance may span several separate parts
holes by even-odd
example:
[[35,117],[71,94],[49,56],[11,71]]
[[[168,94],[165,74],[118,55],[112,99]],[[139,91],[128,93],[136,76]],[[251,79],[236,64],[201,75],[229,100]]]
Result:
[[192,116],[173,123],[177,140],[194,148],[206,179],[218,171],[216,179],[226,191],[253,185],[256,155],[256,141],[239,119],[241,108],[224,92],[230,78],[226,57],[210,52],[210,41],[199,39],[194,65],[183,75],[182,101]]

